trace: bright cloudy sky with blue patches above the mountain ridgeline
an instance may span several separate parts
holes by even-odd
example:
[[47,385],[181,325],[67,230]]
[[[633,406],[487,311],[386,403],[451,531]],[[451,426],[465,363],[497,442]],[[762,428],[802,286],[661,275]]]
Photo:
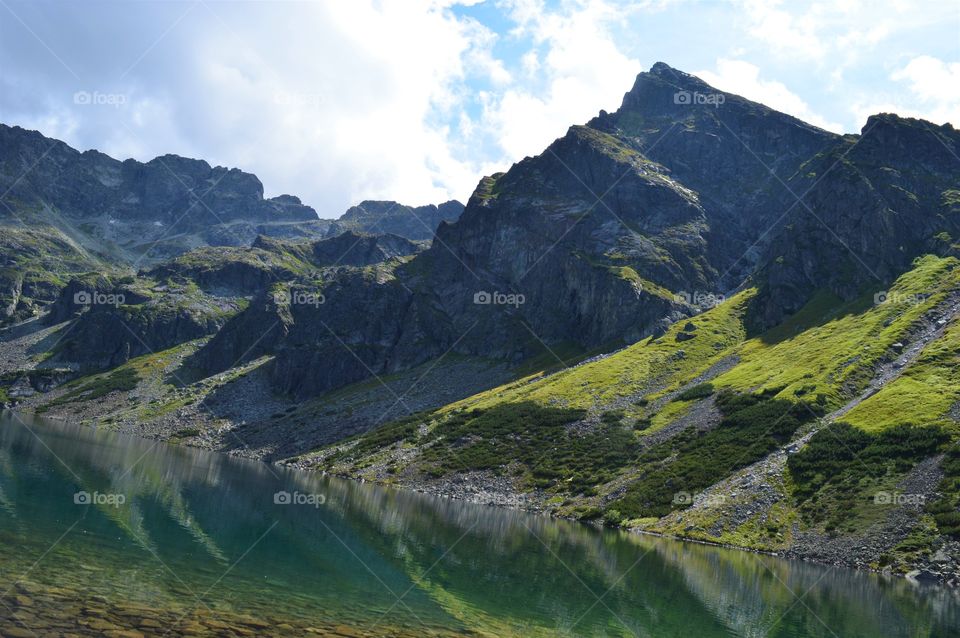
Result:
[[465,202],[657,61],[832,131],[960,126],[956,0],[0,0],[0,122],[328,218]]

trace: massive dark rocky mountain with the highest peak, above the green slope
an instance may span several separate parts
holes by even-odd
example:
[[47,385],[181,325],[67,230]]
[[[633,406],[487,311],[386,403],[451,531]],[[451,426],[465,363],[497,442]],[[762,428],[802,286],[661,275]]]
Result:
[[[481,180],[391,278],[331,280],[323,312],[278,343],[274,389],[316,396],[447,352],[609,350],[747,285],[751,330],[819,290],[880,289],[920,254],[955,252],[957,145],[949,125],[889,115],[835,135],[657,64],[615,113]],[[231,351],[260,335],[237,338]]]

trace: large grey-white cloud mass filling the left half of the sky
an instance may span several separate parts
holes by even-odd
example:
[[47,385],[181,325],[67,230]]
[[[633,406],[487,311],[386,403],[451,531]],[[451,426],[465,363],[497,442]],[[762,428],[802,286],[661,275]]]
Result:
[[[183,7],[170,3],[62,5],[59,20],[13,3],[45,44],[7,21],[0,87],[22,75],[22,91],[43,99],[4,91],[0,121],[121,159],[178,153],[238,166],[268,194],[299,195],[323,216],[364,197],[466,198],[486,166],[452,154],[449,124],[467,82],[503,87],[512,77],[492,54],[496,34],[449,4],[201,3],[177,22]],[[76,105],[79,89],[128,99]]]

